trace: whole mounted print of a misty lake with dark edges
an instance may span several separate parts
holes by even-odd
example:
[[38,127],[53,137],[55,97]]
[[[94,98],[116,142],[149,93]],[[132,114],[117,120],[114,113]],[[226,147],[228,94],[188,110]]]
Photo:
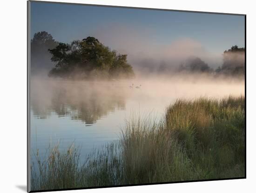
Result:
[[246,15],[27,6],[28,192],[246,178]]

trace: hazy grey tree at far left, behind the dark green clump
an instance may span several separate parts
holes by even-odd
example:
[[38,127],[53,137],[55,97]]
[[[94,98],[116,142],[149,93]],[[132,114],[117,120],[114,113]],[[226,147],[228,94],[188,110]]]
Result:
[[48,49],[57,46],[53,36],[45,31],[34,34],[31,40],[31,73],[47,73],[52,67],[51,54]]

